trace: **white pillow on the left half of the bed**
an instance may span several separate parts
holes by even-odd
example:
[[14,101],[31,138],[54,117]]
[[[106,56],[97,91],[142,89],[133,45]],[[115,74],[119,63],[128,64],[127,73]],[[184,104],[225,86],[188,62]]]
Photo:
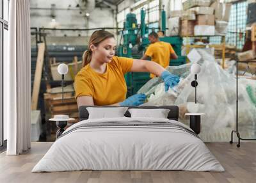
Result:
[[120,118],[125,117],[124,114],[128,107],[86,107],[89,117],[95,118]]

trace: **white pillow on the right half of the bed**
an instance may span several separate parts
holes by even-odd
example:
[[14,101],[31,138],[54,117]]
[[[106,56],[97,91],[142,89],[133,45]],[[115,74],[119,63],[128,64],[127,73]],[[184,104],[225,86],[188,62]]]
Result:
[[128,109],[128,111],[131,113],[131,118],[167,118],[170,109]]

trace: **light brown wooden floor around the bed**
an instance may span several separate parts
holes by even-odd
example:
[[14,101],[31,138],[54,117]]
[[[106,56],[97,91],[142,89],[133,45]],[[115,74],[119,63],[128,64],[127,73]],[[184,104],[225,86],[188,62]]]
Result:
[[0,182],[256,182],[256,143],[206,143],[225,172],[195,171],[65,171],[31,173],[52,143],[32,143],[31,150],[17,156],[0,154]]

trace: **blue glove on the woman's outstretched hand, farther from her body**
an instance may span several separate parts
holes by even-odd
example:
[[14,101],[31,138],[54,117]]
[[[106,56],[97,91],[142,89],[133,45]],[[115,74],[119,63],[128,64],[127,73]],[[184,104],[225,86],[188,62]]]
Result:
[[161,74],[161,78],[164,80],[164,92],[167,92],[173,86],[176,86],[180,82],[180,77],[165,70]]

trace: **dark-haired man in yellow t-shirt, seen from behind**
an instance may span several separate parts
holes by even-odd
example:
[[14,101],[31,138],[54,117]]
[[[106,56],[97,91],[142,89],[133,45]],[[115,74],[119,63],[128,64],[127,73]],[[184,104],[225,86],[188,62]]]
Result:
[[[159,41],[159,36],[156,32],[152,31],[152,33],[148,35],[148,40],[150,41],[150,45],[145,54],[141,57],[141,60],[149,60],[149,58],[151,58],[152,61],[166,68],[170,64],[170,59],[178,58],[172,45]],[[150,74],[150,77],[155,76],[154,74]]]

